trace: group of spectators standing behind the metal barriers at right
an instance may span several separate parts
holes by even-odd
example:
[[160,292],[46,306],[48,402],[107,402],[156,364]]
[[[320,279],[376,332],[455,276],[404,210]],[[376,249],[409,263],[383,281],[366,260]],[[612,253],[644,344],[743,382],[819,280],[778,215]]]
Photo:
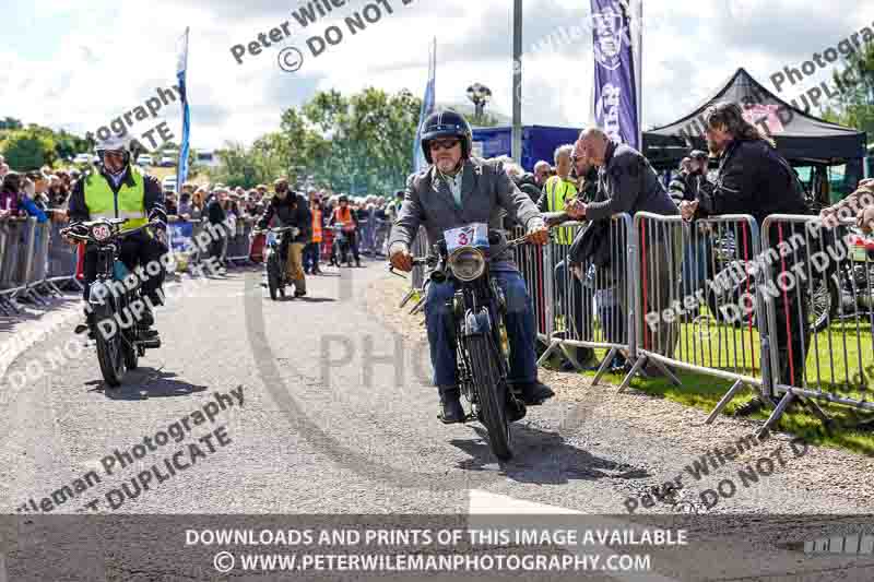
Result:
[[[780,155],[775,142],[743,118],[736,104],[716,104],[708,109],[706,121],[709,152],[689,152],[673,173],[673,179],[665,183],[640,152],[612,141],[598,128],[582,131],[574,144],[558,146],[553,161],[539,161],[533,173],[525,173],[509,157],[497,158],[503,162],[510,179],[538,204],[541,212],[565,213],[570,218],[586,221],[578,231],[559,227],[553,237],[554,245],[565,249],[559,251],[559,257],[565,260],[557,262],[552,273],[556,301],[562,304],[556,309],[567,317],[569,330],[576,328],[571,336],[592,338],[593,299],[598,302],[598,317],[605,335],[610,335],[607,330],[616,330],[616,322],[622,328],[628,313],[626,294],[617,293],[627,286],[625,270],[609,264],[599,264],[595,269],[599,257],[610,254],[603,249],[610,244],[604,224],[610,223],[612,215],[627,213],[634,216],[643,211],[665,216],[680,214],[692,222],[724,214],[748,214],[761,226],[771,214],[815,213],[811,195],[798,174]],[[840,213],[848,218],[852,214],[858,226],[870,233],[874,227],[872,192],[874,180],[863,180],[857,193],[824,210],[820,216],[827,218]],[[863,195],[865,193],[867,195]],[[505,221],[506,228],[511,226],[509,219]],[[677,282],[682,283],[684,293],[692,294],[695,290],[692,282],[713,275],[702,269],[710,261],[712,247],[707,237],[695,238],[695,248],[689,248],[688,244],[684,247],[678,237],[658,235],[651,238],[646,247],[646,263],[654,268],[649,283],[645,283],[648,286],[645,294],[651,300],[650,308],[661,313],[669,307],[662,304],[674,296],[671,288]],[[786,259],[784,269],[801,269],[804,261],[803,256]],[[796,262],[801,264],[794,264]],[[587,272],[580,269],[582,264],[590,265]],[[527,265],[520,266],[524,271]],[[568,276],[568,271],[574,273],[572,277]],[[607,276],[601,276],[597,271],[606,272]],[[568,294],[569,301],[563,302]],[[798,368],[799,363],[805,361],[810,347],[811,331],[806,321],[810,307],[800,296],[783,294],[777,300],[776,310],[779,375],[781,381],[790,385],[798,382],[798,378],[792,377],[792,361]],[[569,312],[562,313],[562,307]],[[793,317],[796,313],[803,317]],[[654,329],[645,326],[642,331],[653,336],[652,344],[660,354],[672,357],[678,336],[677,325],[660,321]],[[578,348],[574,355],[583,366],[593,359],[593,352],[588,348]],[[627,370],[629,366],[621,352],[612,363],[614,370]],[[597,363],[589,368],[599,367]],[[571,370],[576,366],[566,358],[564,368]],[[648,366],[643,373],[664,376],[663,370],[656,366]],[[752,414],[764,405],[757,399],[737,414]]]

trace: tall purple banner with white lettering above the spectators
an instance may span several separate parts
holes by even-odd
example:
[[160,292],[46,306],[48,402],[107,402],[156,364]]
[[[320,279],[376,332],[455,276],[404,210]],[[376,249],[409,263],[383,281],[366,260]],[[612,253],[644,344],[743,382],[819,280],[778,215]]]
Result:
[[640,150],[629,2],[591,0],[591,3],[595,120],[612,140]]

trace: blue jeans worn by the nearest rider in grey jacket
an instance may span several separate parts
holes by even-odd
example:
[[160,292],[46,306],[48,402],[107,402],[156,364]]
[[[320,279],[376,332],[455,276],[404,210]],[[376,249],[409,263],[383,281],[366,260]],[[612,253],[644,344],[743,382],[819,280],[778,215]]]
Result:
[[[505,324],[510,344],[509,383],[534,382],[538,379],[538,360],[534,357],[534,306],[528,295],[525,283],[515,271],[492,272],[507,299]],[[430,363],[434,367],[434,384],[458,385],[456,378],[456,351],[449,344],[448,330],[453,316],[446,305],[456,293],[452,283],[428,282],[425,299],[425,322],[428,328]]]

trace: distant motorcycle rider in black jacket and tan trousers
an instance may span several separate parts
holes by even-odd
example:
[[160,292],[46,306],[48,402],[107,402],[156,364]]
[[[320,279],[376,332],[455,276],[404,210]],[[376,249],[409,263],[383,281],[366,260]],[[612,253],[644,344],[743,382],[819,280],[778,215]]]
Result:
[[285,269],[288,280],[294,282],[295,297],[307,294],[307,282],[304,273],[304,247],[312,238],[312,215],[309,212],[309,201],[303,193],[288,191],[288,181],[280,178],[273,182],[275,194],[267,205],[263,216],[258,222],[259,228],[267,228],[275,216],[282,226],[294,226],[298,229],[297,236],[287,234],[282,238],[282,248],[286,253]]

